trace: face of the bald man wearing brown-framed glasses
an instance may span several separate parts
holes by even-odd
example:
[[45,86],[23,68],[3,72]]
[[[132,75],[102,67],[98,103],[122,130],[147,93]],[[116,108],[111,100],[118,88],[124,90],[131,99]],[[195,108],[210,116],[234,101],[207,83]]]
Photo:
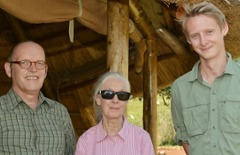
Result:
[[[23,43],[14,50],[11,61],[22,60],[29,60],[31,62],[45,61],[44,50],[35,43]],[[9,67],[8,72],[10,73],[7,74],[12,78],[13,89],[16,93],[33,94],[40,91],[47,75],[47,65],[43,69],[37,69],[35,63],[32,63],[26,69],[16,63],[7,63],[7,65]]]

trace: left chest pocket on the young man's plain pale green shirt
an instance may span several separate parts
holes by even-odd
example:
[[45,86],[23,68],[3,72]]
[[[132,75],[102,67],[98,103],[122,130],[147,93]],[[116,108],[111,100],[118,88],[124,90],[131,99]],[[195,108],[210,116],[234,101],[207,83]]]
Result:
[[207,131],[208,107],[208,104],[196,104],[183,109],[183,119],[190,137],[201,135]]

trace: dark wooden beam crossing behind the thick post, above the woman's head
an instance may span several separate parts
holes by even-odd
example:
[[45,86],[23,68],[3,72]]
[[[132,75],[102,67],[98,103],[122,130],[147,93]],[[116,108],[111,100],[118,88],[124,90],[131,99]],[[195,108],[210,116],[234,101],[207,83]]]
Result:
[[[130,51],[129,66],[134,65],[134,55],[135,51]],[[92,83],[93,80],[106,71],[107,58],[104,56],[78,68],[61,72],[51,72],[48,76],[52,79],[51,83],[55,83],[56,89],[59,89],[60,92],[65,92]]]

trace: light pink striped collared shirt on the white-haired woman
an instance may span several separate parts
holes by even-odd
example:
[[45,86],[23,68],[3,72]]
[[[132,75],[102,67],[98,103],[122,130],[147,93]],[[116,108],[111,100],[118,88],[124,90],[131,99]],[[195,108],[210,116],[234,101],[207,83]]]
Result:
[[148,132],[128,123],[115,136],[108,136],[102,121],[83,133],[77,142],[75,155],[155,155]]

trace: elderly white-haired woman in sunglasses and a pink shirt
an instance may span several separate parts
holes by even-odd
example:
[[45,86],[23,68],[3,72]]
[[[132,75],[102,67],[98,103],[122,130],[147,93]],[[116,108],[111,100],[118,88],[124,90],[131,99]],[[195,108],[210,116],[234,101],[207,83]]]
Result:
[[83,133],[75,155],[154,155],[151,138],[124,116],[131,97],[128,79],[116,72],[103,74],[95,84],[98,124]]

